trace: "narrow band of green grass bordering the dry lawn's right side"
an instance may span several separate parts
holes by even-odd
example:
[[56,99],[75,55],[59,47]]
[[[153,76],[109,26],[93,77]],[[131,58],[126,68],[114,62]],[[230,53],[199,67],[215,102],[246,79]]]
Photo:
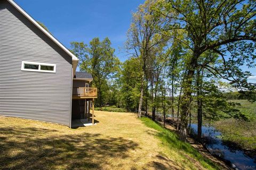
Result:
[[[203,157],[195,148],[193,148],[189,143],[182,142],[179,140],[178,135],[175,131],[171,131],[167,128],[164,128],[162,124],[154,122],[147,117],[142,117],[141,120],[149,128],[157,130],[156,133],[147,132],[149,134],[154,134],[162,143],[170,148],[171,150],[177,150],[180,152],[181,156],[185,158],[194,158],[205,168],[219,169],[219,167],[214,164],[210,159]],[[193,161],[193,159],[191,159]]]

